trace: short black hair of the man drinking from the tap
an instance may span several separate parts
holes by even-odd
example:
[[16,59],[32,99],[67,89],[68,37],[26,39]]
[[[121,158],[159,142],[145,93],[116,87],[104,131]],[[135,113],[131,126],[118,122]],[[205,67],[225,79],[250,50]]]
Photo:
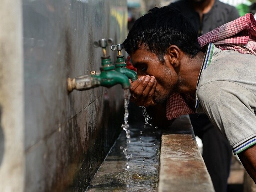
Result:
[[138,18],[123,42],[128,54],[146,46],[162,63],[165,62],[164,55],[171,45],[176,45],[191,58],[201,49],[197,33],[190,22],[171,6],[155,7]]

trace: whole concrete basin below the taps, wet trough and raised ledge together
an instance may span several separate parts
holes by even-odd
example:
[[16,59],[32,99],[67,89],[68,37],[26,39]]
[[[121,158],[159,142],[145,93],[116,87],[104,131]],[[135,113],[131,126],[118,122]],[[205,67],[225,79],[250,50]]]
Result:
[[122,132],[86,191],[214,192],[189,116],[177,118],[163,130],[154,126],[143,129],[143,122],[131,125],[131,133],[131,169],[124,170],[126,159],[120,146],[124,146],[126,138]]

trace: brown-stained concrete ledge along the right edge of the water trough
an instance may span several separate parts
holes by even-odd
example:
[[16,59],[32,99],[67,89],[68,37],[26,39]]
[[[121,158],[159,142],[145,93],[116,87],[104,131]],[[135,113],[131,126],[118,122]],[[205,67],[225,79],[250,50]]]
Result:
[[158,192],[214,192],[189,116],[177,118],[161,140]]

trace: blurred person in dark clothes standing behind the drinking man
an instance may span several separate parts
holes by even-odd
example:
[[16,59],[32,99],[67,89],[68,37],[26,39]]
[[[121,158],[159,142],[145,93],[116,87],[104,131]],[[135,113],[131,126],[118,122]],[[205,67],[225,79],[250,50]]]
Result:
[[[239,17],[238,10],[218,0],[180,0],[171,3],[188,18],[201,36]],[[190,114],[195,135],[203,143],[203,159],[216,192],[227,190],[232,150],[225,137],[214,128],[206,114]]]

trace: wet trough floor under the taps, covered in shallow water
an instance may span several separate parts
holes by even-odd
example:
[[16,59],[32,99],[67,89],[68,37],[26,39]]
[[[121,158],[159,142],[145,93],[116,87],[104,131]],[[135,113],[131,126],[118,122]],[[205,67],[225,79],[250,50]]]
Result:
[[[121,132],[86,191],[157,191],[161,130],[143,127],[144,122],[130,124],[128,146],[126,133]],[[125,148],[127,154],[132,154],[127,171]]]

